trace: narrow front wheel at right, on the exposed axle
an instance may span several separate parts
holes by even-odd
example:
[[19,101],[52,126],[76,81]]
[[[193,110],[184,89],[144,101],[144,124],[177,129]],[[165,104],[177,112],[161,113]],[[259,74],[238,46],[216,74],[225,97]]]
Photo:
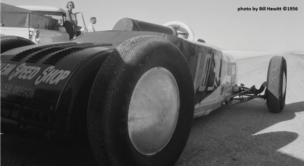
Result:
[[282,56],[269,61],[266,85],[267,107],[271,112],[281,112],[285,106],[287,68]]

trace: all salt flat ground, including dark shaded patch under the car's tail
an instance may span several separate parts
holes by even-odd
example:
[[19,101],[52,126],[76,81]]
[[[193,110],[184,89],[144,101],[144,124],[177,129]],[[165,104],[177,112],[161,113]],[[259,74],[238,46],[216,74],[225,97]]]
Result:
[[[237,59],[238,84],[258,88],[266,81],[273,55],[287,61],[286,105],[281,113],[268,111],[266,101],[254,99],[223,106],[195,119],[187,145],[176,166],[303,166],[304,55],[277,52],[228,51]],[[127,154],[126,154],[127,155]],[[1,165],[96,165],[84,142],[56,142],[1,134]]]

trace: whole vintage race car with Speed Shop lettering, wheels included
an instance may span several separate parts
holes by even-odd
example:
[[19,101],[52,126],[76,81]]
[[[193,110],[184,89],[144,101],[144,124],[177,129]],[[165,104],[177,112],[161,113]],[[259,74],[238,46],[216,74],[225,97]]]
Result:
[[173,165],[193,118],[253,98],[280,112],[285,92],[283,57],[261,88],[237,86],[233,56],[177,21],[123,18],[112,31],[1,55],[1,122],[54,138],[85,130],[99,165]]

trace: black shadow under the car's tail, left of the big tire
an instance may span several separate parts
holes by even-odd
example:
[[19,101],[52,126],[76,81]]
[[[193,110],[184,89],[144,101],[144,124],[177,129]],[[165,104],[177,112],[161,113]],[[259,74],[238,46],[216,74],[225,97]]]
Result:
[[8,166],[97,166],[86,138],[56,141],[16,130],[1,134],[0,156]]

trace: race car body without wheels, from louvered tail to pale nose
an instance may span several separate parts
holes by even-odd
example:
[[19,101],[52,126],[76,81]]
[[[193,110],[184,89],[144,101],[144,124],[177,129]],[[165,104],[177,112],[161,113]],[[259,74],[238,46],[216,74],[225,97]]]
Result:
[[[119,25],[122,21],[129,25]],[[237,66],[231,55],[206,43],[179,38],[169,27],[129,18],[120,22],[113,31],[85,33],[67,42],[30,45],[2,54],[2,121],[64,133],[77,130],[77,115],[85,111],[79,108],[87,106],[105,59],[127,39],[144,35],[167,38],[184,55],[193,78],[195,118],[209,114],[234,94]]]

